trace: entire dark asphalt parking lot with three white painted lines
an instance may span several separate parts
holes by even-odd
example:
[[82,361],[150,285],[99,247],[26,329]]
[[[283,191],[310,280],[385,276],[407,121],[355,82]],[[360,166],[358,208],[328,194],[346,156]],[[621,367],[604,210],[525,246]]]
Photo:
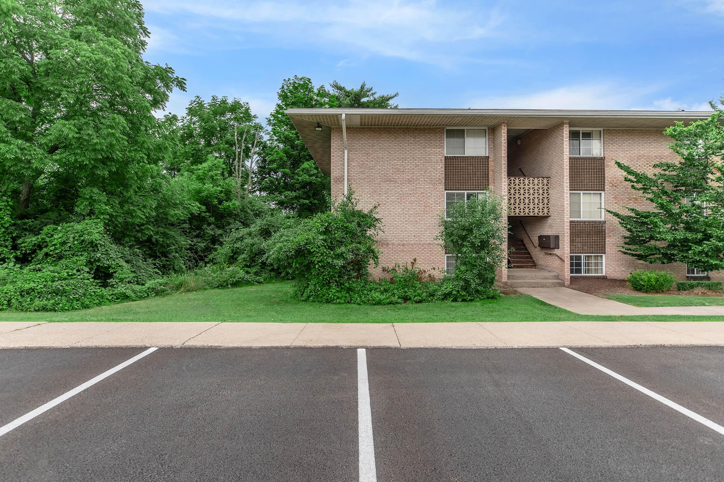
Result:
[[573,353],[0,350],[0,480],[724,480],[724,348]]

